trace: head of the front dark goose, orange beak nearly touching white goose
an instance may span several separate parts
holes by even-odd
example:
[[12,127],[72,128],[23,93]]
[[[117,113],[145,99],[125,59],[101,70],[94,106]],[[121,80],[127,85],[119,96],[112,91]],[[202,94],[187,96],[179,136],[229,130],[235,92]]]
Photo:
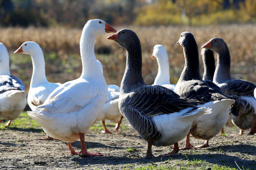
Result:
[[126,50],[129,48],[136,48],[137,46],[141,46],[141,42],[139,41],[138,36],[130,29],[121,29],[114,35],[109,36],[107,39],[116,41]]

